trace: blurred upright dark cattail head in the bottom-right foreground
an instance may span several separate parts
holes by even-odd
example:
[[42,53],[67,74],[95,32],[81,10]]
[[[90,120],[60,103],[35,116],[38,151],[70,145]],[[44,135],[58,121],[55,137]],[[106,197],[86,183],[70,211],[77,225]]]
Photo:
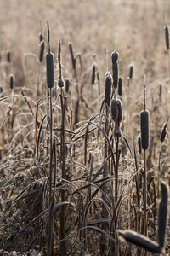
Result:
[[165,240],[166,240],[167,199],[168,199],[167,183],[161,182],[161,201],[159,203],[158,232],[157,232],[158,242],[160,247],[164,247]]

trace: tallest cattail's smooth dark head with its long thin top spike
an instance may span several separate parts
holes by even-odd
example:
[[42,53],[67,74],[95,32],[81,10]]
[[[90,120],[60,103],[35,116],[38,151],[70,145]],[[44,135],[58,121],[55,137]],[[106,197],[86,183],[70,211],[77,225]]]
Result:
[[49,24],[48,24],[48,53],[46,54],[47,84],[48,88],[54,87],[54,54],[50,52]]

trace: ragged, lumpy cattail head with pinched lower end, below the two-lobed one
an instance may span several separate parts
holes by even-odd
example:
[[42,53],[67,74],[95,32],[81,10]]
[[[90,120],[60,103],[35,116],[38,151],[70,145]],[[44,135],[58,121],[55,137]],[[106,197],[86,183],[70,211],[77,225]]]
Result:
[[122,102],[116,98],[111,100],[111,119],[113,119],[115,124],[115,137],[121,137],[120,125],[122,122]]

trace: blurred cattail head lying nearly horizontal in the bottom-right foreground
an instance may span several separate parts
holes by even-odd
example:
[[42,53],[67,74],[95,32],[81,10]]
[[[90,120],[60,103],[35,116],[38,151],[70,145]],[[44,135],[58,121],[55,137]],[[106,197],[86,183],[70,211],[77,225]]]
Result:
[[162,248],[155,241],[150,240],[150,238],[141,235],[133,230],[118,230],[118,234],[122,236],[126,241],[132,242],[138,247],[142,247],[145,250],[152,253],[161,253]]

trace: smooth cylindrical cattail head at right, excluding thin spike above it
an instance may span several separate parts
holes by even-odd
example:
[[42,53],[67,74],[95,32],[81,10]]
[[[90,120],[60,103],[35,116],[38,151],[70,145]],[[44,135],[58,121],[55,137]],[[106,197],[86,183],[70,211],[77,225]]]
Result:
[[146,150],[149,147],[149,112],[147,110],[140,112],[140,131],[142,148]]

